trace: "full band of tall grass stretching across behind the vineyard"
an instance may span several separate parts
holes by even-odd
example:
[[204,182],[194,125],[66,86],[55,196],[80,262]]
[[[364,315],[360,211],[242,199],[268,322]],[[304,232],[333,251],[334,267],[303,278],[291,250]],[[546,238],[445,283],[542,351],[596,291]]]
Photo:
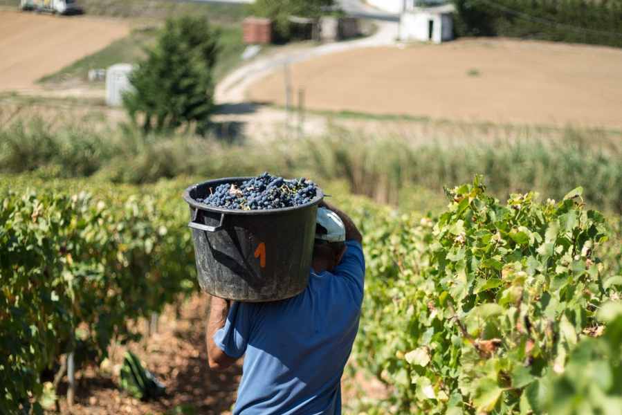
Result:
[[587,203],[622,212],[622,151],[612,143],[594,144],[589,135],[569,131],[558,140],[413,144],[340,129],[324,138],[231,145],[190,134],[143,137],[131,127],[51,128],[32,120],[0,127],[0,172],[149,183],[179,175],[223,177],[268,170],[338,179],[351,192],[392,204],[408,204],[421,188],[440,193],[443,186],[484,174],[488,189],[502,199],[528,190],[560,199],[580,185]]

